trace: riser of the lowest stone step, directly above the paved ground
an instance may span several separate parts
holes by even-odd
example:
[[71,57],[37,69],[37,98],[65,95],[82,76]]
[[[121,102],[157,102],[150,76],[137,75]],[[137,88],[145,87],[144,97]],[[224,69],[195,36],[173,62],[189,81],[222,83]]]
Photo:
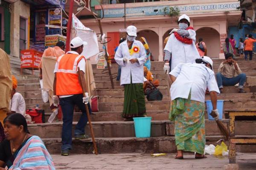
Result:
[[[206,144],[215,144],[222,136],[206,136]],[[61,139],[42,139],[50,154],[61,153]],[[98,152],[103,153],[174,153],[176,152],[174,136],[160,136],[150,138],[96,138]],[[92,139],[72,140],[71,154],[93,153]],[[225,142],[228,145],[228,142]],[[236,152],[256,152],[256,145],[238,145]],[[71,155],[72,156],[72,155]]]

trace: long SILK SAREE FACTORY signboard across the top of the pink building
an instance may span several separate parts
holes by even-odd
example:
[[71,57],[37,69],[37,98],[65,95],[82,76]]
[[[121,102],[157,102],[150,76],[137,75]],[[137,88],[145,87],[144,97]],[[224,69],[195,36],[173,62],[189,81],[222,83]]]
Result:
[[[240,11],[240,2],[227,3],[202,3],[202,4],[188,4],[177,6],[145,6],[136,8],[126,8],[126,17],[150,16],[150,15],[165,15],[169,13],[169,7],[176,7],[181,14],[202,13],[202,12],[219,12],[219,11]],[[164,9],[166,8],[166,13]],[[96,6],[96,9],[99,9]],[[101,12],[102,15],[102,12]],[[104,17],[123,17],[124,8],[104,9]]]

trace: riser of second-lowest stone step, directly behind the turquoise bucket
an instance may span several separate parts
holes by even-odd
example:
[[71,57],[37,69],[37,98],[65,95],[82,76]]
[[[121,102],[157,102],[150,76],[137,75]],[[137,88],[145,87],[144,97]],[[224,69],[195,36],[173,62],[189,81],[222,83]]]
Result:
[[[227,127],[228,120],[221,122]],[[73,122],[73,130],[77,122]],[[134,122],[107,121],[92,122],[95,137],[135,137]],[[236,135],[256,135],[256,121],[236,121]],[[216,122],[206,120],[206,135],[221,135]],[[168,120],[151,121],[151,136],[174,136],[174,122]],[[41,138],[61,138],[62,122],[29,124],[29,132]],[[49,133],[51,132],[51,133]],[[90,127],[85,127],[85,132],[90,136]],[[74,134],[74,133],[73,133]]]

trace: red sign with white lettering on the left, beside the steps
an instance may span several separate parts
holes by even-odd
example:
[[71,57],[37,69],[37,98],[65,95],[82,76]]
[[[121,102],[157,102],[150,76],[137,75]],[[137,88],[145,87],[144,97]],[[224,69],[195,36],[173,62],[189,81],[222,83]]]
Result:
[[43,55],[41,52],[35,50],[22,50],[20,53],[20,68],[38,68]]

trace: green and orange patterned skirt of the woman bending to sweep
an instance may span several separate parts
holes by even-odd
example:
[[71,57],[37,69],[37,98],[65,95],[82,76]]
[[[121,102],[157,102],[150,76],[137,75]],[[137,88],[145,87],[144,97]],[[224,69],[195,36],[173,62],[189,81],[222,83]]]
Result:
[[177,98],[172,101],[169,119],[175,123],[177,150],[204,154],[205,120],[204,103]]

